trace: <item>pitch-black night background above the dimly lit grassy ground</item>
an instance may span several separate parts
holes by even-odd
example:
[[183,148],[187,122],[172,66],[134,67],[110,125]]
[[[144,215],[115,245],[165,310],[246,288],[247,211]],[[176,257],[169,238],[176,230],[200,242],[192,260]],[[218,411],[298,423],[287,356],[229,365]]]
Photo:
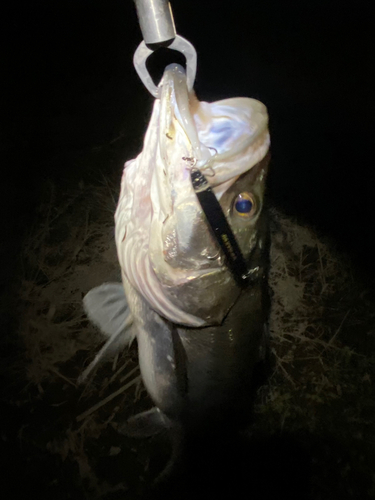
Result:
[[[267,105],[272,202],[330,235],[371,285],[371,2],[174,0],[172,8],[177,32],[198,53],[199,99]],[[74,154],[119,138],[120,154],[102,168],[120,176],[141,148],[153,98],[132,65],[141,41],[132,0],[15,1],[2,10],[4,264],[20,251],[46,179],[90,179]],[[4,268],[3,283],[12,275]]]

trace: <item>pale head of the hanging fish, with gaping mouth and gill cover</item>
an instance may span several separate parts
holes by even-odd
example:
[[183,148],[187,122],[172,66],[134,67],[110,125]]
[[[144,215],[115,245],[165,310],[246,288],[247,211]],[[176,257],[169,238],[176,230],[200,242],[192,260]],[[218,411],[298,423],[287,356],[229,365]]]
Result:
[[[176,64],[166,68],[160,86],[143,151],[124,169],[115,214],[118,257],[126,279],[161,316],[192,327],[217,324],[240,292],[207,225],[190,172],[196,166],[205,173],[249,256],[266,171],[258,165],[270,143],[267,110],[249,98],[198,101]],[[252,219],[237,220],[231,217],[235,186],[247,186],[244,179],[254,166],[259,210]]]

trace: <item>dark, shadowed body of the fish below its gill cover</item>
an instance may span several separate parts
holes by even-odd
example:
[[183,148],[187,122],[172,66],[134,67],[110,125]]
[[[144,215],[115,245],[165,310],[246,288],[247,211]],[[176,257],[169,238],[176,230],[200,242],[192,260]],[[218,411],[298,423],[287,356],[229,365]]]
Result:
[[[269,348],[266,212],[258,224],[258,244],[252,260],[252,265],[259,267],[258,275],[242,291],[221,325],[203,328],[174,325],[157,315],[124,278],[129,307],[140,318],[139,363],[155,407],[130,417],[119,427],[119,432],[146,438],[168,430],[171,451],[161,471],[157,467],[160,454],[157,449],[153,451],[156,464],[153,487],[161,498],[165,498],[165,488],[169,492],[171,481],[179,485],[181,479],[189,480],[190,474],[195,474],[194,464],[202,464],[199,459],[203,450],[207,454],[208,450],[217,449],[218,439],[225,445],[226,436],[235,443],[238,431],[250,421],[257,388],[253,375],[266,362]],[[217,453],[213,453],[212,464],[217,460]]]

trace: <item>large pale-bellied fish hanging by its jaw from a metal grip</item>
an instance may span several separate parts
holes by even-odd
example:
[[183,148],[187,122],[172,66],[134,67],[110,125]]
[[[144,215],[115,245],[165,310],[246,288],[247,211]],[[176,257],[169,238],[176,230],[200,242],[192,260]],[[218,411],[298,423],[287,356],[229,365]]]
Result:
[[[121,283],[84,298],[108,353],[134,338],[154,407],[122,432],[186,435],[245,425],[256,365],[269,333],[270,161],[266,106],[251,98],[199,101],[183,67],[166,67],[137,158],[125,164],[115,212]],[[228,266],[192,183],[203,175],[249,270],[246,286]]]

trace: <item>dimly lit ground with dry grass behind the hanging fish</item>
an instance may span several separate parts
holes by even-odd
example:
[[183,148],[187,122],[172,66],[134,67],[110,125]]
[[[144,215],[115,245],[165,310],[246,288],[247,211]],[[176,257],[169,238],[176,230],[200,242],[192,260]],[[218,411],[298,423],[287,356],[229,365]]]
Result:
[[[81,154],[77,170],[80,162],[115,155],[115,148]],[[113,213],[120,175],[98,173],[91,183],[82,178],[63,187],[45,183],[14,294],[4,298],[3,307],[12,301],[14,311],[1,340],[8,498],[35,491],[40,500],[149,495],[152,449],[164,445],[117,432],[127,417],[151,407],[136,343],[77,385],[104,342],[82,298],[119,280]],[[249,497],[260,490],[263,498],[374,498],[374,304],[331,243],[276,210],[270,218],[268,379],[246,439],[232,447],[218,443],[215,467],[206,463],[175,491],[180,498],[225,488],[236,497],[246,488]]]

